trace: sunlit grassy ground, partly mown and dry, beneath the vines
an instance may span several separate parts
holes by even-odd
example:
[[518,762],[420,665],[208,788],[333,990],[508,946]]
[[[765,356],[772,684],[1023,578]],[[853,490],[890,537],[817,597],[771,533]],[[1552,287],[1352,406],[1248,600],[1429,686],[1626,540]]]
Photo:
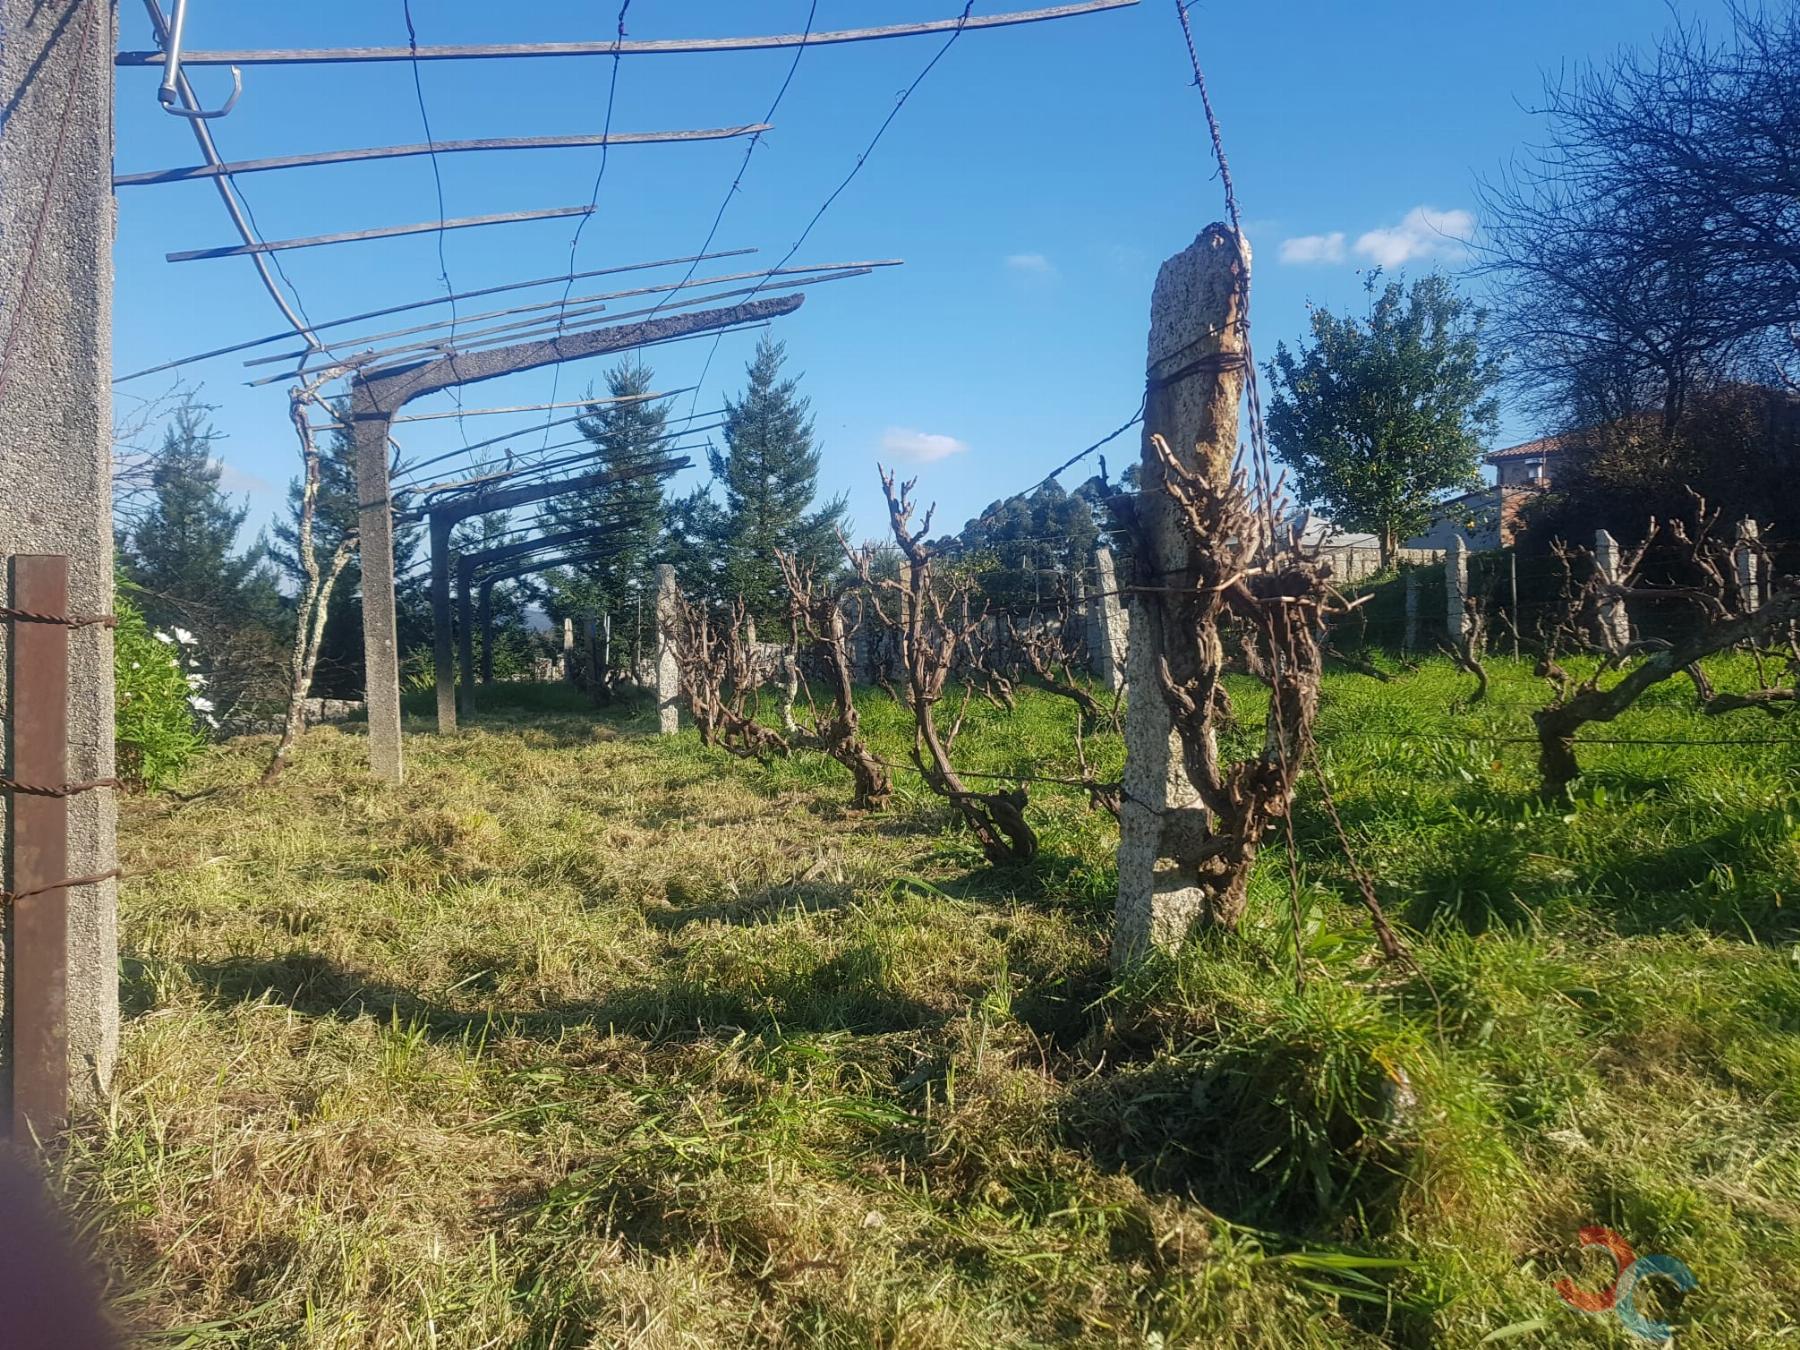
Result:
[[[1643,1345],[1564,1309],[1607,1224],[1678,1345],[1800,1343],[1800,724],[1685,686],[1535,799],[1541,686],[1334,675],[1251,920],[1120,983],[1112,821],[1039,788],[986,868],[902,779],[846,810],[518,689],[275,790],[211,751],[124,821],[124,1057],[61,1186],[164,1345]],[[1739,671],[1721,671],[1732,684]],[[898,711],[871,695],[878,749]],[[1247,734],[1247,733],[1246,733]],[[1116,767],[1118,738],[1093,745]],[[1071,707],[972,769],[1073,772]]]

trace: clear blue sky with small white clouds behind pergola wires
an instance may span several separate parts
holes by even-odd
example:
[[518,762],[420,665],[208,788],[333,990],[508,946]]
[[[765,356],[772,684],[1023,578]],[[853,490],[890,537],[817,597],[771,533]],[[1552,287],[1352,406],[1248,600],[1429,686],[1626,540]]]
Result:
[[[979,0],[976,13],[1040,2]],[[412,9],[421,43],[607,38],[617,16],[612,0],[414,0]],[[626,27],[637,40],[790,32],[805,27],[806,11],[808,0],[635,0]],[[819,0],[815,27],[956,13],[954,0]],[[1714,20],[1723,5],[1696,0],[1681,13]],[[122,45],[149,47],[140,11],[124,5],[122,14]],[[1309,304],[1359,306],[1361,274],[1377,261],[1413,274],[1462,266],[1458,236],[1480,229],[1474,180],[1535,135],[1526,108],[1544,74],[1647,41],[1667,23],[1661,0],[1195,5],[1201,59],[1256,250],[1253,324],[1264,353],[1303,331]],[[405,20],[400,0],[191,0],[187,41],[396,45]],[[772,266],[788,250],[940,45],[911,38],[803,56],[715,241],[761,254],[716,270]],[[758,121],[790,61],[790,52],[625,58],[612,128]],[[610,67],[608,58],[427,63],[432,131],[439,140],[599,131]],[[223,99],[223,70],[191,74],[203,101]],[[121,171],[196,162],[187,126],[155,103],[157,79],[151,70],[119,72]],[[214,122],[214,133],[227,158],[425,139],[405,63],[252,67],[238,110]],[[742,155],[743,142],[733,140],[614,149],[578,266],[697,252]],[[598,166],[596,149],[446,155],[446,211],[585,205]],[[437,216],[425,158],[265,173],[243,187],[265,238]],[[169,250],[236,241],[211,185],[128,187],[119,198],[117,371],[281,326],[247,259],[164,261]],[[1121,423],[1143,387],[1156,266],[1220,214],[1172,0],[965,34],[794,257],[907,261],[814,288],[805,308],[778,324],[817,414],[823,491],[848,493],[859,531],[873,533],[884,520],[875,461],[900,463],[918,473],[920,497],[940,502],[938,522],[956,527]],[[565,272],[571,234],[569,220],[450,232],[448,275],[457,290],[472,290]],[[320,322],[441,290],[434,236],[295,250],[283,265]],[[508,302],[518,301],[479,304]],[[752,344],[754,335],[722,342],[698,394],[702,410],[742,385]],[[709,347],[700,340],[653,351],[659,387],[695,383]],[[250,495],[256,527],[279,508],[295,445],[283,387],[243,385],[274,367],[247,371],[239,360],[191,367],[187,378],[218,405],[227,486]],[[580,396],[601,373],[601,362],[565,367],[558,398]],[[121,385],[121,412],[131,407],[128,394],[157,394],[167,378]],[[553,374],[540,371],[479,385],[466,398],[470,407],[536,403],[551,387]],[[684,398],[682,410],[688,405]],[[448,407],[441,398],[409,410]],[[468,437],[529,421],[472,419]],[[1508,419],[1505,430],[1523,437],[1537,428]],[[405,432],[409,455],[459,443],[455,421]],[[1123,437],[1109,463],[1116,470],[1132,454],[1136,439]]]

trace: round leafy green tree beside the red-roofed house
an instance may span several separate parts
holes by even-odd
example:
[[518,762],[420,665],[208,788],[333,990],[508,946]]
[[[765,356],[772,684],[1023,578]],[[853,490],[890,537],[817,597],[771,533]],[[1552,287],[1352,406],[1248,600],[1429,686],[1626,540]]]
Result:
[[1449,279],[1368,277],[1366,319],[1312,311],[1312,340],[1269,362],[1269,434],[1296,493],[1381,540],[1382,563],[1431,526],[1444,493],[1474,488],[1499,419],[1487,311]]

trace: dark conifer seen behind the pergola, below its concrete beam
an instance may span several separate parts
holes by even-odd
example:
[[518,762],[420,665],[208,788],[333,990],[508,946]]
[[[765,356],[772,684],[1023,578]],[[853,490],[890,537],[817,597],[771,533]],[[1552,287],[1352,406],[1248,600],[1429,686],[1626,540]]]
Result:
[[628,403],[590,403],[578,423],[594,446],[583,472],[614,470],[621,477],[599,488],[551,499],[542,513],[545,535],[594,527],[599,562],[558,569],[544,578],[545,608],[554,619],[583,614],[623,614],[650,589],[650,563],[662,535],[662,475],[646,466],[664,455],[668,403],[644,401],[652,371],[626,360],[607,373],[607,392]]

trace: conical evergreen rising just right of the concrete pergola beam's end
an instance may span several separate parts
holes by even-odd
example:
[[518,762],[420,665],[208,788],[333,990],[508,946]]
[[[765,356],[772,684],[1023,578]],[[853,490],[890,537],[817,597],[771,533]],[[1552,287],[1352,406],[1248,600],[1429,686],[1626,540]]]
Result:
[[785,344],[767,337],[756,344],[743,396],[725,400],[725,448],[709,452],[725,493],[716,526],[720,583],[727,596],[743,596],[761,621],[787,612],[776,549],[830,571],[844,517],[842,497],[808,509],[819,490],[819,450],[799,382],[781,378],[785,360]]

